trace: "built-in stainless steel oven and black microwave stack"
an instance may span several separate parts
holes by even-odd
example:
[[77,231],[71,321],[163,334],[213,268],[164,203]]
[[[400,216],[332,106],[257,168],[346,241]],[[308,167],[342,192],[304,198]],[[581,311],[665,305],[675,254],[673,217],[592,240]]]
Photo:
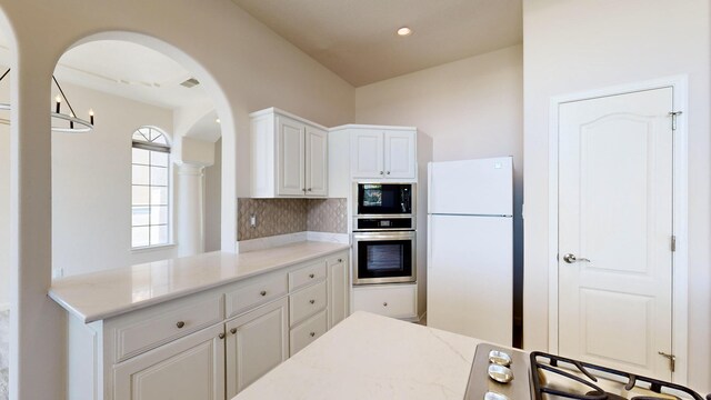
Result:
[[417,280],[417,183],[353,184],[353,284]]

